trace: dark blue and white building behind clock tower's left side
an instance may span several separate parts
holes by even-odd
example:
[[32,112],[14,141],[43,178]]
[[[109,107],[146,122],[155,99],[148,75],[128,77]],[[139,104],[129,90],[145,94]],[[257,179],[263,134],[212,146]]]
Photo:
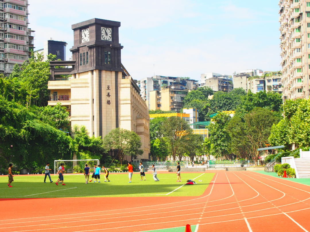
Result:
[[35,52],[42,53],[44,55],[44,61],[47,60],[48,54],[56,55],[56,60],[66,60],[66,46],[68,44],[64,41],[55,41],[53,38],[47,40],[43,44],[43,48],[36,50]]

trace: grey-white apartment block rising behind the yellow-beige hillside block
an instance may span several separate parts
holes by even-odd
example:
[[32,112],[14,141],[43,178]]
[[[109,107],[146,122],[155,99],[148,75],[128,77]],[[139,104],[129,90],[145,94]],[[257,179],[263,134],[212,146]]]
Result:
[[179,88],[184,90],[196,90],[199,87],[198,81],[193,79],[181,79],[180,77],[171,76],[152,76],[140,80],[141,96],[148,101],[150,107],[150,92],[159,91],[166,87]]

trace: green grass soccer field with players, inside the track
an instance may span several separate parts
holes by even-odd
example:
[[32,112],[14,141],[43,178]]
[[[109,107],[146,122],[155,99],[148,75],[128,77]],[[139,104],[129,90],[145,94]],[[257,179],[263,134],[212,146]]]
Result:
[[[12,188],[7,186],[7,176],[0,176],[0,198],[199,196],[208,187],[214,173],[181,173],[182,182],[176,182],[175,173],[157,174],[160,180],[157,182],[153,180],[153,175],[145,174],[145,176],[146,181],[140,181],[140,174],[136,172],[133,174],[132,183],[128,183],[128,173],[111,173],[110,182],[104,182],[102,175],[101,183],[85,184],[84,175],[64,174],[66,185],[57,186],[55,182],[58,175],[51,175],[53,183],[49,182],[48,177],[47,183],[43,183],[42,175],[14,175]],[[197,178],[195,179],[197,184],[179,188],[186,183],[186,180],[194,178]]]

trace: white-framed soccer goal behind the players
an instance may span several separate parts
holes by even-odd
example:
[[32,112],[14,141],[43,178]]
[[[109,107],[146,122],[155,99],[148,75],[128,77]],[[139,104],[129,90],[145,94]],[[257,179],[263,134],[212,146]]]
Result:
[[94,169],[94,165],[99,165],[99,160],[54,160],[54,175],[57,174],[60,164],[64,164],[64,173],[83,173],[85,165]]

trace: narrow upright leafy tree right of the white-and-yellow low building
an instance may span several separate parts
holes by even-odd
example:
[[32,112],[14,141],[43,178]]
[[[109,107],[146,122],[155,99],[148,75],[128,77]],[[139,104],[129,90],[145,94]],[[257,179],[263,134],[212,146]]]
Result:
[[214,123],[210,123],[207,127],[209,129],[209,140],[211,146],[211,154],[215,157],[226,156],[230,152],[230,136],[226,131],[226,126],[231,117],[222,112],[218,112],[213,118]]

